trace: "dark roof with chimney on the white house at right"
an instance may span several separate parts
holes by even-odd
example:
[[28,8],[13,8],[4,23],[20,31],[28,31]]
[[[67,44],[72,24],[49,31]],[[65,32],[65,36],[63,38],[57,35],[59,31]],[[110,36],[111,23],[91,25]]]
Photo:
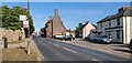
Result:
[[108,15],[105,19],[98,21],[97,23],[105,22],[107,20],[120,18],[120,17],[132,17],[132,7],[122,7],[119,12],[113,15]]

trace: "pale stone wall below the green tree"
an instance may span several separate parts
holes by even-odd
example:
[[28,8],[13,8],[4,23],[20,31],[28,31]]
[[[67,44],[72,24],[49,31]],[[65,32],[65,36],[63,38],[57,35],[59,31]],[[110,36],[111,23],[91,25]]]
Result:
[[2,39],[3,35],[8,39],[8,42],[19,41],[20,36],[24,39],[24,32],[21,32],[21,30],[12,31],[0,28],[0,39]]

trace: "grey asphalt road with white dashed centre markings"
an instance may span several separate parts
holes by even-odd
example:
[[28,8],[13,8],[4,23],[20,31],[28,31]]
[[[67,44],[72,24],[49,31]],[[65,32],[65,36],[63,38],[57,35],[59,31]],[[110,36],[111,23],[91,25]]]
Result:
[[34,38],[33,40],[44,56],[42,61],[100,61],[100,63],[102,63],[101,61],[131,61],[130,59],[58,42],[53,39]]

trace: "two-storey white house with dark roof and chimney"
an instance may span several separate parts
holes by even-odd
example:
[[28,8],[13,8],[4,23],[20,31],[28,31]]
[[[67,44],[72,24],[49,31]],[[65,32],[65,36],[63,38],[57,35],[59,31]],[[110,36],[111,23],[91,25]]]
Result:
[[114,42],[129,44],[132,39],[132,7],[122,7],[118,13],[97,22],[98,34],[108,35]]

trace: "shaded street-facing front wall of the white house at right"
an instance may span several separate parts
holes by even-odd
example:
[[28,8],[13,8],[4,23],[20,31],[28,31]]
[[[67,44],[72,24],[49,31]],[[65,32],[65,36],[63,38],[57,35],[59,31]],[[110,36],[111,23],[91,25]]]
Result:
[[[101,35],[108,35],[108,32],[106,31],[111,31],[111,39],[116,42],[123,42],[122,41],[122,28],[120,29],[110,29],[110,30],[105,30],[106,28],[114,28],[114,27],[123,27],[123,17],[119,18],[120,19],[120,25],[117,25],[117,19],[109,20],[111,21],[111,27],[109,27],[109,21],[102,22],[102,28],[100,23],[98,23],[98,31],[102,31],[103,33]],[[117,39],[117,30],[120,30],[120,39]]]

